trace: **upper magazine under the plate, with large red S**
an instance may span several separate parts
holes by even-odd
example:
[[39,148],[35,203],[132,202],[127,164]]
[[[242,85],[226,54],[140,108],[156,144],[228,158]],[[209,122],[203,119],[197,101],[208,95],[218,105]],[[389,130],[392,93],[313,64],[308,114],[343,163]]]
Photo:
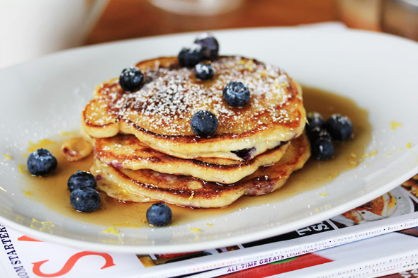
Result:
[[216,269],[228,274],[416,227],[417,194],[418,175],[361,207],[297,231],[181,254],[79,250],[36,241],[0,224],[0,277],[176,277]]

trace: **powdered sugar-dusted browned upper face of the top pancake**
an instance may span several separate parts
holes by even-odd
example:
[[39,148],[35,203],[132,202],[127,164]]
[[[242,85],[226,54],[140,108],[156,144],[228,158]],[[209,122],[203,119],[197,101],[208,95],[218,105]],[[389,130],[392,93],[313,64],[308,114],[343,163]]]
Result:
[[[157,67],[143,72],[145,83],[139,91],[125,93],[113,86],[102,93],[120,119],[158,134],[193,134],[190,119],[198,110],[210,110],[218,117],[218,133],[239,134],[264,129],[271,121],[293,120],[286,103],[298,95],[277,66],[242,57],[220,57],[212,66],[215,76],[210,81],[196,79],[190,68]],[[243,108],[232,108],[222,98],[222,89],[230,81],[241,81],[249,88],[250,100]]]

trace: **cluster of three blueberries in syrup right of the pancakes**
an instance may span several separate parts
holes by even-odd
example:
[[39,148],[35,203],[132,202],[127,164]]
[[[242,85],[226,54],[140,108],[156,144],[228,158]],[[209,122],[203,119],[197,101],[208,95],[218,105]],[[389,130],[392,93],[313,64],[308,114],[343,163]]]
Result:
[[326,121],[318,112],[307,113],[307,135],[312,156],[327,160],[334,155],[333,140],[346,140],[353,136],[353,124],[349,117],[332,114]]

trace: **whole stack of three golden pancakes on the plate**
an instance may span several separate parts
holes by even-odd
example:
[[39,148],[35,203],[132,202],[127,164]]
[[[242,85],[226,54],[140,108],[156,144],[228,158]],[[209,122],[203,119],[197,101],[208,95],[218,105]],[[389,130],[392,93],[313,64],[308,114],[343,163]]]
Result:
[[[310,156],[300,86],[278,67],[218,57],[213,79],[201,81],[177,57],[136,66],[144,74],[138,91],[107,81],[82,113],[81,125],[94,141],[91,173],[108,196],[225,207],[242,195],[277,190]],[[222,98],[230,81],[251,92],[242,108]],[[193,134],[191,117],[199,110],[218,118],[211,137]]]

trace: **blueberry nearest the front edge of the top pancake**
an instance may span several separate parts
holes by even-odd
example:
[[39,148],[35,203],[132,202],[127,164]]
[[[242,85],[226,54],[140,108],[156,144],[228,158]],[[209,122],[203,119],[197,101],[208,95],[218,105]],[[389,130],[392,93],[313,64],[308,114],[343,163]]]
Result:
[[200,110],[191,117],[191,129],[198,137],[210,137],[218,129],[218,118],[208,110]]

